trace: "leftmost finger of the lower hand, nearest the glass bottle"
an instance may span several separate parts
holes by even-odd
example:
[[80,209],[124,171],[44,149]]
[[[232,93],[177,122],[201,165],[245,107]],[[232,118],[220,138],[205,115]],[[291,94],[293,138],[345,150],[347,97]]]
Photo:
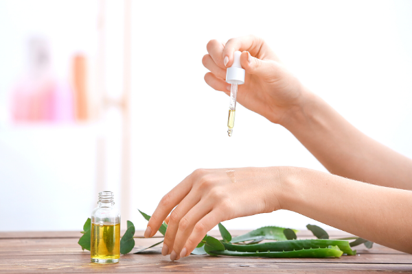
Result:
[[[193,174],[193,173],[192,173]],[[150,217],[146,231],[144,232],[144,237],[149,238],[156,234],[159,230],[163,220],[168,216],[168,214],[177,206],[184,197],[192,189],[192,178],[193,176],[189,175],[183,179],[183,181],[175,186],[168,194],[163,196],[160,200],[159,205],[157,206],[155,212]]]

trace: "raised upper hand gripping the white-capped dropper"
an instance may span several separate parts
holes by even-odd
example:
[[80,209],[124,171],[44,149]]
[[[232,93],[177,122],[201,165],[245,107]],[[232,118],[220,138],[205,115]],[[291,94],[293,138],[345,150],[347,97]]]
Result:
[[233,52],[242,51],[240,63],[246,75],[244,84],[238,87],[239,103],[281,125],[292,114],[290,111],[301,107],[306,91],[262,38],[242,36],[226,44],[210,40],[207,51],[209,54],[202,60],[210,71],[205,82],[215,90],[230,95],[231,85],[225,82],[226,68],[233,64]]

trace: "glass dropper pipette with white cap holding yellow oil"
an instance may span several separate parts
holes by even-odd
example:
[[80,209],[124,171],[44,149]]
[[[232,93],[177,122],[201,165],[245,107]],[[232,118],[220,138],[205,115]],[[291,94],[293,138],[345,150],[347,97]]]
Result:
[[226,82],[231,84],[229,100],[229,116],[227,118],[227,134],[233,133],[235,125],[236,97],[238,96],[238,85],[244,84],[244,69],[240,65],[240,51],[233,53],[233,64],[226,70]]

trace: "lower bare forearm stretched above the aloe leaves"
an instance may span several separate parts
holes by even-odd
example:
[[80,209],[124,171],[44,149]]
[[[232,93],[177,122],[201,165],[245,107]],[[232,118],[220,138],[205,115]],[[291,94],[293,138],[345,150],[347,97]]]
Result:
[[[274,168],[282,209],[412,253],[412,192],[302,168]],[[281,192],[281,195],[279,195]]]

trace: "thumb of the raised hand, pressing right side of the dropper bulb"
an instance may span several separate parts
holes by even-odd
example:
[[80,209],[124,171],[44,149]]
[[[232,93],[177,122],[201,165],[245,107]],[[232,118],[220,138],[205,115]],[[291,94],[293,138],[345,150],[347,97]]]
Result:
[[275,62],[254,58],[249,51],[242,52],[242,55],[240,55],[240,64],[247,73],[259,77],[270,77],[277,71],[277,64]]

